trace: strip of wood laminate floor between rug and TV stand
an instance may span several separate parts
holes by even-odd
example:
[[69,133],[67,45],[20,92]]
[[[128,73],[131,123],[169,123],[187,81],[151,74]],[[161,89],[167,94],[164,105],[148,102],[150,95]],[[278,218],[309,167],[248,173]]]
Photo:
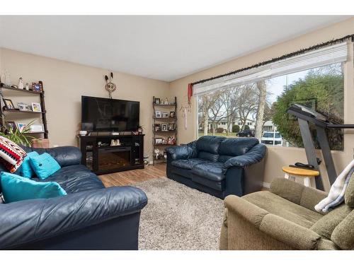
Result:
[[98,176],[105,187],[126,186],[157,177],[166,177],[166,164],[148,165],[143,170],[128,170]]

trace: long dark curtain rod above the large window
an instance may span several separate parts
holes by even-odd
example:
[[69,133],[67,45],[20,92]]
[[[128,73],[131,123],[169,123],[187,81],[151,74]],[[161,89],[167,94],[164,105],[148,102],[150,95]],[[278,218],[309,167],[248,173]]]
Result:
[[354,34],[346,35],[345,37],[341,37],[341,38],[336,39],[336,40],[329,40],[328,42],[322,42],[322,43],[320,43],[318,45],[314,45],[314,46],[311,46],[311,47],[308,47],[308,48],[305,48],[305,49],[299,49],[296,52],[290,52],[289,54],[284,54],[284,55],[282,55],[280,57],[275,57],[275,58],[270,59],[268,61],[262,61],[261,63],[253,64],[251,66],[244,67],[244,68],[241,68],[241,69],[229,72],[229,73],[224,73],[224,74],[221,74],[219,76],[213,76],[213,77],[210,77],[210,78],[202,79],[200,81],[196,81],[196,82],[192,83],[192,86],[196,85],[198,83],[204,83],[204,82],[211,81],[211,80],[214,80],[214,79],[217,79],[217,78],[221,78],[221,77],[224,77],[224,76],[230,76],[230,75],[232,75],[234,73],[239,73],[241,71],[246,71],[246,70],[253,69],[253,68],[256,68],[256,67],[259,67],[259,66],[264,66],[266,64],[270,64],[270,63],[273,63],[275,61],[280,61],[280,60],[283,60],[283,59],[287,59],[289,57],[295,57],[296,55],[304,54],[305,52],[309,52],[309,51],[312,51],[314,49],[319,49],[319,48],[322,48],[322,47],[325,47],[325,46],[335,45],[336,43],[345,42],[349,38],[351,39],[352,42],[354,42]]

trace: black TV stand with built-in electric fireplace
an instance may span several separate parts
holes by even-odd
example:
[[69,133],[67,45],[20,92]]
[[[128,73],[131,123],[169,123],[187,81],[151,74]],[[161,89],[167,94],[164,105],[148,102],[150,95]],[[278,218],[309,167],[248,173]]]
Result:
[[[144,134],[79,136],[81,163],[97,175],[144,168]],[[120,141],[112,146],[111,141]]]

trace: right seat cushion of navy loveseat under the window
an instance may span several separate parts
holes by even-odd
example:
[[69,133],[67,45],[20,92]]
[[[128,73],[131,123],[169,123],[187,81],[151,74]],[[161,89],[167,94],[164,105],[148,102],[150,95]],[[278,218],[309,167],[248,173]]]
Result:
[[224,163],[219,162],[195,165],[192,168],[192,173],[193,175],[198,175],[199,177],[219,182],[225,178],[224,174],[222,174],[223,165]]

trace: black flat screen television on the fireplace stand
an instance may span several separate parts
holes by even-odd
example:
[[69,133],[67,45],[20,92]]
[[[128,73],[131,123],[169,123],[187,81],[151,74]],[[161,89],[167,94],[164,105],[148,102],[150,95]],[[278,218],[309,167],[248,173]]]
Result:
[[139,102],[81,96],[81,128],[84,131],[136,131]]

